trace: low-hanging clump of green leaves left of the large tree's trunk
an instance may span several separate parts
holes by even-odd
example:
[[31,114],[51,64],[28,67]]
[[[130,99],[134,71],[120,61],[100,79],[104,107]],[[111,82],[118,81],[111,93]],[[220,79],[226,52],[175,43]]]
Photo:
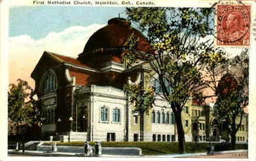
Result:
[[155,104],[154,88],[141,88],[141,84],[125,84],[126,90],[130,96],[130,103],[133,105],[132,112],[139,115],[149,114],[149,110]]

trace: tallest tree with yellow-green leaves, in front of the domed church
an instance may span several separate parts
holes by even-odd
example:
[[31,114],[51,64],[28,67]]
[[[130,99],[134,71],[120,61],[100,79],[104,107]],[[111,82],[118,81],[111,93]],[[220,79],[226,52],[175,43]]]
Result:
[[[128,19],[145,35],[127,41],[129,53],[124,58],[130,64],[139,60],[146,62],[157,74],[155,78],[175,115],[179,152],[184,152],[185,136],[181,111],[191,96],[202,98],[205,68],[221,63],[225,52],[213,48],[212,39],[207,39],[213,26],[208,16],[213,9],[192,8],[127,8]],[[164,79],[170,80],[166,85]],[[168,88],[172,90],[169,91]]]

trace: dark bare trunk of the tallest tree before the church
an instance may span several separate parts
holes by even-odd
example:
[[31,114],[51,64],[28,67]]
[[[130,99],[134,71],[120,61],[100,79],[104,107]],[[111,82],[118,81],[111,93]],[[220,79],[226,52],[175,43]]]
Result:
[[181,121],[181,113],[175,113],[175,122],[177,125],[177,134],[178,134],[178,141],[179,141],[179,154],[184,153],[184,145],[185,145],[185,137],[184,137],[184,130]]

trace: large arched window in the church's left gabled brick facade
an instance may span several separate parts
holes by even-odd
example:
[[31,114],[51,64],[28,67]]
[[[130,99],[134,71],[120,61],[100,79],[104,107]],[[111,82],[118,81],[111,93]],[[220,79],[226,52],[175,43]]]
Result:
[[45,75],[43,76],[43,83],[41,84],[41,90],[43,93],[51,92],[55,90],[57,87],[56,76],[52,69],[46,71]]

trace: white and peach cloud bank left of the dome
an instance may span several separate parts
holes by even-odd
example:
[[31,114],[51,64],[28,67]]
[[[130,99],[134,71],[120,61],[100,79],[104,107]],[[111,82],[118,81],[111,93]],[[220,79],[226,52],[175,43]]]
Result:
[[24,79],[34,88],[30,74],[43,52],[56,52],[77,58],[90,36],[105,25],[71,26],[59,33],[48,33],[46,37],[34,40],[28,35],[9,38],[9,83]]

